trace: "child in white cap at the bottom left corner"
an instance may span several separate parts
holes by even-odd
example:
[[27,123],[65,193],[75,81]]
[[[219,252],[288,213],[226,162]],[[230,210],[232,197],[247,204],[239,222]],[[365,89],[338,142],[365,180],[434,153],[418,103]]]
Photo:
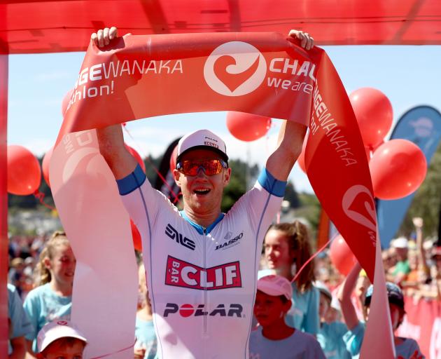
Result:
[[81,359],[87,339],[69,320],[54,320],[38,332],[38,359]]

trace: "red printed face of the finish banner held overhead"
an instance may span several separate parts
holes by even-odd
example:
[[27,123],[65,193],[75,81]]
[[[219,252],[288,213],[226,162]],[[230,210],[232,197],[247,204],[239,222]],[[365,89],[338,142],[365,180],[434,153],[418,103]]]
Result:
[[311,119],[309,180],[373,280],[376,221],[365,150],[346,91],[320,48],[305,51],[265,33],[125,36],[108,50],[90,46],[60,136],[221,110]]

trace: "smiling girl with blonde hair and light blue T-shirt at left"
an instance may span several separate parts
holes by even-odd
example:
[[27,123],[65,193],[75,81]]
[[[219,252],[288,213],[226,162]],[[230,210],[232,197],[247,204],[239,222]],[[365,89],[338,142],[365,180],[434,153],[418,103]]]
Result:
[[26,336],[27,351],[36,355],[36,337],[41,328],[55,319],[69,320],[76,259],[66,233],[55,231],[40,253],[36,266],[36,287],[23,304],[34,332]]

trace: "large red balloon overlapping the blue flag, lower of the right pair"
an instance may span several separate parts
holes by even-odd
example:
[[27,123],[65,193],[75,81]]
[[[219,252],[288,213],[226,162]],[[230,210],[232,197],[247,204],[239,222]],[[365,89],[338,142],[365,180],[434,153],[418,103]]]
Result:
[[426,156],[416,144],[396,139],[382,144],[369,163],[374,195],[398,199],[416,191],[427,172]]

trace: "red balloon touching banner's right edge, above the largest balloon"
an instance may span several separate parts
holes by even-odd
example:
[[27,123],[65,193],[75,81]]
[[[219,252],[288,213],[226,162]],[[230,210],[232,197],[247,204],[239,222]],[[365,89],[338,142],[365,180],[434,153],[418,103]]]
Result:
[[353,112],[365,147],[374,149],[391,129],[392,105],[389,99],[375,88],[359,88],[349,95]]

